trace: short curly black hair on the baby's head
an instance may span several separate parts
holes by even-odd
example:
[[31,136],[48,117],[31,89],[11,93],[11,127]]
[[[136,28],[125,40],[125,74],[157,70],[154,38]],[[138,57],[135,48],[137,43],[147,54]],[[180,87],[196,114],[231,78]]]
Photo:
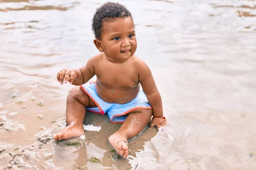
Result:
[[103,32],[102,24],[103,22],[111,22],[115,18],[125,18],[131,17],[131,12],[125,8],[125,6],[119,3],[107,2],[102,6],[97,8],[96,12],[93,15],[92,20],[92,30],[94,33],[94,37],[97,39],[101,39],[101,34]]

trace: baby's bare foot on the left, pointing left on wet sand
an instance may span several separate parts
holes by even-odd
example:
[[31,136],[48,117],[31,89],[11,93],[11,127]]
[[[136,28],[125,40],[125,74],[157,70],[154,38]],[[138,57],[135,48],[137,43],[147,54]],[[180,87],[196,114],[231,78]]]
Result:
[[55,141],[69,139],[84,134],[82,125],[77,125],[76,122],[71,122],[70,125],[64,127],[59,133],[54,136]]

